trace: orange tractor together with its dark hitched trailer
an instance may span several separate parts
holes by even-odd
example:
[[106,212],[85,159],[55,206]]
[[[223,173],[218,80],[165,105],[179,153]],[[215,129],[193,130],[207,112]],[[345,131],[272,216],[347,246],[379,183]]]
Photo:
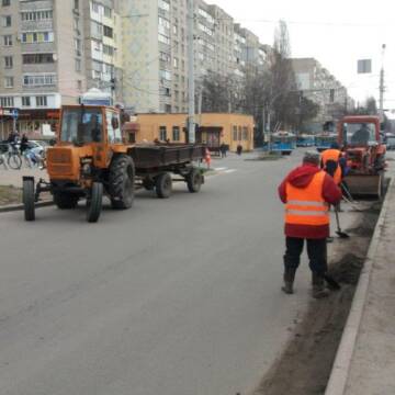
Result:
[[60,112],[55,147],[47,150],[49,182],[23,178],[23,203],[26,221],[35,219],[35,202],[49,192],[60,210],[87,202],[87,221],[97,222],[106,195],[115,210],[129,208],[135,187],[155,190],[169,198],[173,178],[184,181],[191,193],[204,182],[200,169],[203,145],[127,145],[122,134],[120,111],[106,106],[67,105]]

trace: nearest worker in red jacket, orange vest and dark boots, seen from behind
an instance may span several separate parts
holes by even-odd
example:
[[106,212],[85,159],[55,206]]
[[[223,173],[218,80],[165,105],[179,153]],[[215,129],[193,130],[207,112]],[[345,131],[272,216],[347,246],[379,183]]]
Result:
[[282,291],[293,293],[295,273],[306,240],[313,297],[328,296],[324,275],[328,270],[329,204],[335,205],[340,201],[341,191],[334,179],[319,169],[318,153],[305,153],[303,165],[291,171],[280,184],[279,195],[285,204],[286,250]]

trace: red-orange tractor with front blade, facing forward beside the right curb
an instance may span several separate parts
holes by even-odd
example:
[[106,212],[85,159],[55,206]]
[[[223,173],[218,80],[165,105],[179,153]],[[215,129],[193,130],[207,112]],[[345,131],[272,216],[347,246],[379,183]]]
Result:
[[386,147],[381,142],[379,116],[345,116],[338,124],[338,138],[347,159],[343,181],[349,192],[382,198]]

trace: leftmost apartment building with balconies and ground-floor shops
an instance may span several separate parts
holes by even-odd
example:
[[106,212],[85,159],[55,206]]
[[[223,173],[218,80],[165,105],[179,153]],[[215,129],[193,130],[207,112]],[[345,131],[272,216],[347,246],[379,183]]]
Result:
[[[111,80],[122,60],[114,5],[112,0],[0,0],[0,106],[19,110],[20,132],[48,132],[60,105],[78,103],[89,88],[113,92]],[[0,138],[11,128],[3,111]]]

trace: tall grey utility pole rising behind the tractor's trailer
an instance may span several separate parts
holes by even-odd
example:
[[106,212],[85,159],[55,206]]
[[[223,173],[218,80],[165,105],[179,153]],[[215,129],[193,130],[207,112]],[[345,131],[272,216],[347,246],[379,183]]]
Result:
[[194,1],[188,0],[188,78],[189,78],[189,143],[195,143],[195,83],[194,83]]

